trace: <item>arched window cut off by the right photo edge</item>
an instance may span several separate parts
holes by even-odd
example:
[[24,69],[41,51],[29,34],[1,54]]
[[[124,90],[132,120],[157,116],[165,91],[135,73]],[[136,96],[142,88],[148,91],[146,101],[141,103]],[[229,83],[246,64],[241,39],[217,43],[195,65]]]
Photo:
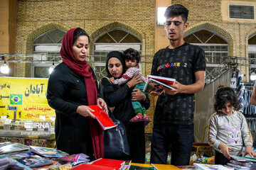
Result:
[[[256,73],[256,35],[252,35],[248,40],[248,53],[250,59],[250,75]],[[254,81],[250,78],[250,81]]]

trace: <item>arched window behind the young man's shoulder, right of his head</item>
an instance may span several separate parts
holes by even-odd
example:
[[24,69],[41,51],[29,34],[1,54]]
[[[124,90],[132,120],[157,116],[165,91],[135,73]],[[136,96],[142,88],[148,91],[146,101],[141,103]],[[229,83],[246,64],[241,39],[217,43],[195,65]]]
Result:
[[199,45],[206,54],[206,74],[214,67],[223,63],[228,57],[228,43],[220,35],[208,30],[198,30],[195,33],[187,35],[184,40],[188,43]]

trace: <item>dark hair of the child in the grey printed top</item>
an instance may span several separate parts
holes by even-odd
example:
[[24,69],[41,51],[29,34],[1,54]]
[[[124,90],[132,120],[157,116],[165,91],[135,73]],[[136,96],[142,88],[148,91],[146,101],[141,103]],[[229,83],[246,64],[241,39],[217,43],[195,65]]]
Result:
[[235,94],[235,91],[227,86],[221,86],[215,93],[215,111],[218,112],[222,108],[225,108],[225,103],[230,102],[234,108],[238,108],[239,101]]

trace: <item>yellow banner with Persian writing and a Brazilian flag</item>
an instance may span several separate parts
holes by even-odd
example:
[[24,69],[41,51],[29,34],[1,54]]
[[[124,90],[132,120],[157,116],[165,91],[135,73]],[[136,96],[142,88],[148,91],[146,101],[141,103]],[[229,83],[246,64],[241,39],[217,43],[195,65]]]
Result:
[[46,99],[47,84],[48,79],[0,77],[0,115],[13,120],[55,117]]

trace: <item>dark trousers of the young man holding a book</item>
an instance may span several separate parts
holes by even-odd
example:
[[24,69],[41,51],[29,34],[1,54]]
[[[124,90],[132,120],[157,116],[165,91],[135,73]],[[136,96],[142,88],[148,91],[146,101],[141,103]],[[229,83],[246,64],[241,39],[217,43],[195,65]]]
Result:
[[193,143],[193,124],[154,125],[150,163],[166,164],[171,145],[171,164],[189,165]]

